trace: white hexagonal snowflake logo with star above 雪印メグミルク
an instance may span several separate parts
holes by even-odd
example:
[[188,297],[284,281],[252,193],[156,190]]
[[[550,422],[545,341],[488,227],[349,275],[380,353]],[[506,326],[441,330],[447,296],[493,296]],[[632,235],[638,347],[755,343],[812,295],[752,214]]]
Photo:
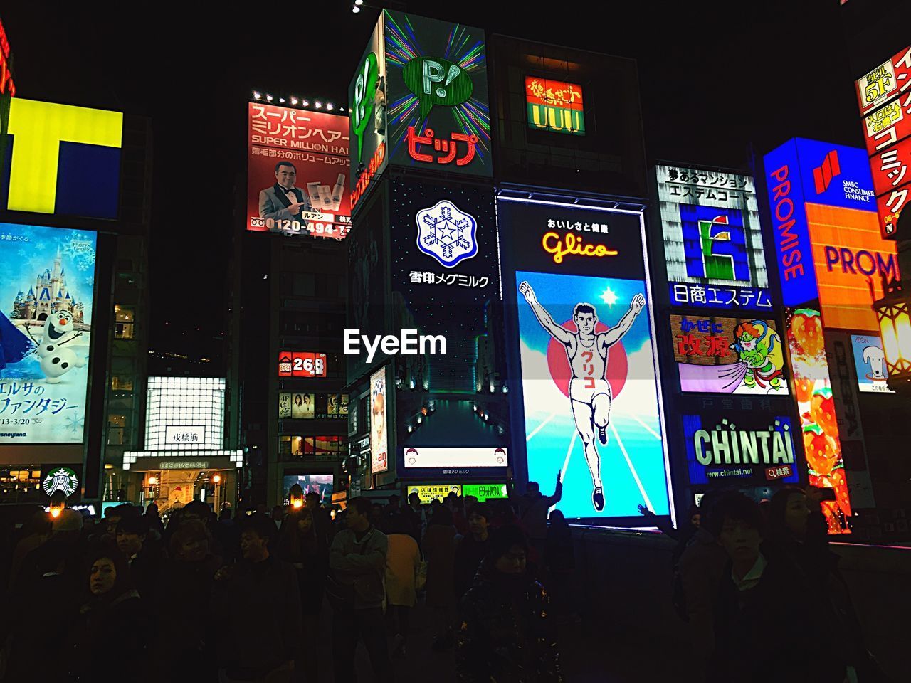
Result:
[[434,257],[446,268],[476,256],[477,221],[449,199],[441,199],[430,209],[418,211],[415,222],[418,250]]

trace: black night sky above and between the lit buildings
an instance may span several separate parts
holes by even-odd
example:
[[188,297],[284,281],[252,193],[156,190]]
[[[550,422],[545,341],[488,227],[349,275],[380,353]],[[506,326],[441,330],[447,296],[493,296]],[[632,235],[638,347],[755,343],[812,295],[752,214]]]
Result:
[[[202,347],[217,345],[226,307],[194,308],[194,288],[218,296],[227,286],[251,89],[342,104],[377,11],[353,15],[349,0],[247,11],[212,4],[194,15],[185,3],[148,5],[148,15],[136,4],[87,6],[5,3],[17,95],[152,117],[151,348],[181,351],[195,335]],[[751,144],[761,155],[794,136],[863,144],[837,0],[415,1],[406,9],[635,57],[650,163],[749,168]]]

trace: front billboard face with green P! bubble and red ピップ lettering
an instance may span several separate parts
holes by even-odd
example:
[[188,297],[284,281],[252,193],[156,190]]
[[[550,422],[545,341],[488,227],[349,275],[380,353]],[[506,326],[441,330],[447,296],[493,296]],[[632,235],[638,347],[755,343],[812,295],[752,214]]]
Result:
[[484,31],[386,10],[389,163],[490,176]]

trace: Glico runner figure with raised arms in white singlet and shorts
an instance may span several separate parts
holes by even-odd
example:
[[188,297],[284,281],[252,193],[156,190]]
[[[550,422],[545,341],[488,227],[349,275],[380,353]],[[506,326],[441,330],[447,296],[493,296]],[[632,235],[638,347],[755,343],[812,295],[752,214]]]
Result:
[[610,384],[605,379],[608,352],[609,348],[630,330],[636,316],[645,306],[645,297],[641,294],[634,296],[630,301],[630,310],[616,327],[596,333],[598,311],[595,311],[595,307],[590,303],[580,301],[576,304],[572,319],[578,331],[569,331],[554,322],[550,313],[537,301],[535,291],[526,281],[519,284],[518,291],[531,306],[541,327],[566,348],[569,369],[572,372],[572,378],[569,380],[569,405],[572,408],[578,435],[582,439],[585,460],[589,465],[591,483],[594,486],[591,504],[600,512],[604,509],[604,488],[601,483],[601,461],[598,447],[595,445],[595,429],[598,429],[600,442],[607,444],[611,401]]

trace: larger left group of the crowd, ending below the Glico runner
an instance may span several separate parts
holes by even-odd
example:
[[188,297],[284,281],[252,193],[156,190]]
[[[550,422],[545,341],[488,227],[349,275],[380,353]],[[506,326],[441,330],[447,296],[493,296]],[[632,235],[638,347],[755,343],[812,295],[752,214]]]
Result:
[[[194,501],[166,519],[154,504],[101,519],[36,506],[0,547],[0,680],[317,681],[331,638],[334,680],[355,680],[363,642],[386,683],[394,658],[409,657],[419,600],[433,648],[458,652],[459,680],[559,680],[537,579],[548,563],[565,574],[572,546],[558,516],[548,535],[546,506],[528,515],[531,497],[516,509],[455,494],[431,505],[355,498],[331,515],[308,494],[268,515]],[[516,510],[543,513],[539,549]]]

